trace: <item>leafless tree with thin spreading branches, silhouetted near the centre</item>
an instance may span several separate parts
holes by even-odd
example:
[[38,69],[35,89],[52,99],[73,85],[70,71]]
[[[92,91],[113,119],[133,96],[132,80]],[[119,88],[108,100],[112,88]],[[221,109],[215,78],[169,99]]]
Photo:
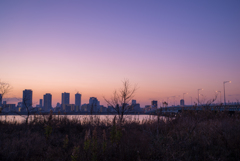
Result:
[[132,107],[130,101],[133,99],[136,90],[136,85],[131,87],[129,80],[124,80],[123,87],[119,91],[115,90],[111,99],[106,99],[104,97],[108,106],[118,114],[120,123],[123,121],[124,114],[126,114]]

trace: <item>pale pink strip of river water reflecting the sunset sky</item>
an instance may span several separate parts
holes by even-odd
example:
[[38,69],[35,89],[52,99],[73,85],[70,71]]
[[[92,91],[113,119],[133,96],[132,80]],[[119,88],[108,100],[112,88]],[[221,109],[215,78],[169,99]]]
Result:
[[[78,120],[78,121],[87,121],[90,119],[90,117],[93,117],[94,119],[99,119],[100,121],[105,122],[112,122],[115,115],[53,115],[56,119],[61,119],[64,117],[67,117],[70,120]],[[30,115],[29,116],[29,122],[33,121],[34,119],[43,120],[48,119],[49,115]],[[11,123],[23,123],[26,121],[27,116],[26,115],[1,115],[0,120],[11,122]],[[161,119],[165,120],[165,117],[161,116]],[[140,123],[144,120],[156,120],[157,116],[155,115],[125,115],[124,119],[126,121],[139,121]]]

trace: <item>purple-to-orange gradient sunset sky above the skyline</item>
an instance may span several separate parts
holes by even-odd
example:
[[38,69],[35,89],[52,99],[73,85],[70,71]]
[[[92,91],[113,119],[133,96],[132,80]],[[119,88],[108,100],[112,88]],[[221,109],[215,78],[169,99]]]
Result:
[[[5,99],[61,93],[111,98],[129,80],[141,107],[240,101],[239,0],[1,0],[0,79]],[[218,94],[216,103],[220,102]]]

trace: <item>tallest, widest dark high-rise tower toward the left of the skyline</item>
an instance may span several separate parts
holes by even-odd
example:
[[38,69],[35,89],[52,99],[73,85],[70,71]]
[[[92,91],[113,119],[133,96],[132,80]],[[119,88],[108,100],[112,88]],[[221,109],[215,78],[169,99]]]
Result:
[[22,111],[26,111],[27,109],[32,108],[32,90],[25,89],[23,91],[23,99],[22,99]]

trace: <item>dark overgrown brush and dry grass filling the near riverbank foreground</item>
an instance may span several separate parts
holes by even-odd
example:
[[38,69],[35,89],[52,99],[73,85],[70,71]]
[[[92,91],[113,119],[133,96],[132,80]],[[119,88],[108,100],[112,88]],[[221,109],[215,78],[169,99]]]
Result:
[[[171,118],[171,117],[170,117]],[[0,122],[0,160],[239,160],[240,114],[185,111],[174,119],[35,117]]]

